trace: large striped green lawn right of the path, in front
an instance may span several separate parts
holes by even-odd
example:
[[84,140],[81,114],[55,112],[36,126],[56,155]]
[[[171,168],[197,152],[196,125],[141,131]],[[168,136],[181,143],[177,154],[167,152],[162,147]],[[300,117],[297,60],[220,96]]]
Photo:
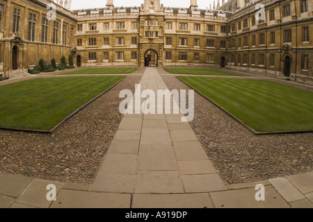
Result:
[[179,78],[258,132],[313,130],[313,92],[266,80]]

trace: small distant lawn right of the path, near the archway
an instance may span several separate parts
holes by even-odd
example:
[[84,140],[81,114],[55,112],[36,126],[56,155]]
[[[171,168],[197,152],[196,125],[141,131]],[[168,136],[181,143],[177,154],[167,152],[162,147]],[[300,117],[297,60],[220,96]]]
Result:
[[209,75],[209,76],[241,76],[232,74],[227,71],[219,71],[212,69],[180,69],[180,68],[164,68],[170,74],[191,74],[191,75]]

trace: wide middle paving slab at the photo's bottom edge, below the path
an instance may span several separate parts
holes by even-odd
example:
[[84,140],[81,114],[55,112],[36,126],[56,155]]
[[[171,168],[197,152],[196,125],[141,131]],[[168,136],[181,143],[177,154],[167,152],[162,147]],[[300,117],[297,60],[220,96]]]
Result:
[[134,194],[132,208],[213,208],[209,194]]

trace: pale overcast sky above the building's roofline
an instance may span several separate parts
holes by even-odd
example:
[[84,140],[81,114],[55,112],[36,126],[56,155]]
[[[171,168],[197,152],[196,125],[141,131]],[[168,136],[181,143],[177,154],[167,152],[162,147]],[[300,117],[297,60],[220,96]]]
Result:
[[[213,8],[214,0],[198,0],[198,6],[200,9],[209,8],[210,3]],[[218,0],[216,0],[217,3]],[[114,6],[141,6],[144,0],[114,0]],[[172,7],[184,7],[188,8],[190,6],[190,0],[161,0],[164,6]],[[220,0],[222,3],[222,0]],[[106,0],[72,0],[72,10],[82,9],[82,8],[104,8],[106,6]]]

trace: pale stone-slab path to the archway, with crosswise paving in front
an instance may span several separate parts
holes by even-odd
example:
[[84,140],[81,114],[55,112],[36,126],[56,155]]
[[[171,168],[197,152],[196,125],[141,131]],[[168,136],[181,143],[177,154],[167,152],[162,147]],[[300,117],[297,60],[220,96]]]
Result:
[[[147,68],[141,89],[167,87],[157,69]],[[225,185],[182,117],[125,114],[93,185],[0,173],[0,207],[313,207],[313,171]],[[49,184],[56,201],[46,198]],[[258,184],[265,201],[255,200]]]

